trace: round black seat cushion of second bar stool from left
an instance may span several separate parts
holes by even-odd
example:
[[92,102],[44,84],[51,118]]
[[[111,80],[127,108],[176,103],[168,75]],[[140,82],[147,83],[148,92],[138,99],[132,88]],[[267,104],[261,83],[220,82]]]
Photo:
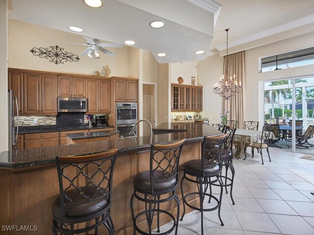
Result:
[[[159,178],[162,176],[163,171],[162,170],[156,170],[154,171],[154,175]],[[176,177],[171,177],[167,178],[165,176],[162,176],[164,179],[162,181],[155,181],[154,182],[154,190],[155,191],[162,191],[166,189],[170,189],[174,187],[177,183]],[[156,179],[155,179],[156,180]],[[141,190],[141,191],[146,191],[150,192],[151,191],[151,176],[150,176],[150,171],[143,171],[139,174],[137,174],[134,178],[134,188]]]

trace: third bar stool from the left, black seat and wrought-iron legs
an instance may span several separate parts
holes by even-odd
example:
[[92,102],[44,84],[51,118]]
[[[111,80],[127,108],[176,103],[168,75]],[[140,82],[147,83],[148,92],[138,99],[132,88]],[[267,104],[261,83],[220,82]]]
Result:
[[[223,222],[220,217],[220,207],[221,207],[221,199],[222,199],[222,191],[223,185],[220,180],[220,173],[221,173],[221,150],[223,148],[224,141],[227,137],[227,134],[214,136],[214,137],[204,137],[203,144],[202,144],[202,156],[201,159],[194,159],[190,160],[183,164],[183,177],[181,180],[181,193],[182,193],[182,200],[183,200],[183,215],[181,217],[181,221],[183,220],[185,214],[185,205],[201,212],[201,228],[202,228],[202,235],[203,235],[203,212],[204,211],[214,211],[218,209],[218,217],[223,226]],[[196,177],[195,179],[191,179],[189,177]],[[216,177],[214,180],[210,178]],[[183,180],[187,180],[192,183],[197,184],[198,192],[191,192],[184,196],[183,194]],[[216,182],[219,185],[215,184]],[[220,198],[216,198],[210,193],[206,193],[208,185],[211,187],[219,186],[220,187]],[[203,188],[204,187],[204,188]],[[190,205],[186,198],[190,195],[199,195],[200,197],[200,208],[194,207]],[[204,209],[203,203],[205,196],[209,196],[209,198],[214,199],[217,202],[217,206]]]

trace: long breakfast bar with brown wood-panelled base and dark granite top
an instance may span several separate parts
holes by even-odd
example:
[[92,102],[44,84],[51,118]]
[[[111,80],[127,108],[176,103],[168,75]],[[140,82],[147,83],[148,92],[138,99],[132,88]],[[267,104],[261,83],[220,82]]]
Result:
[[[37,234],[52,234],[51,208],[55,197],[59,193],[55,157],[87,155],[118,148],[118,158],[113,174],[111,214],[115,226],[115,234],[133,234],[130,209],[133,177],[135,174],[149,169],[151,144],[171,143],[186,139],[180,159],[180,164],[182,165],[191,159],[200,158],[201,141],[204,136],[222,134],[212,126],[195,123],[184,123],[182,125],[181,123],[179,125],[178,123],[162,123],[155,127],[153,131],[155,134],[152,137],[93,141],[1,152],[0,224],[36,225],[38,227]],[[182,174],[181,169],[179,179],[182,178]],[[188,182],[184,182],[184,189],[186,192],[197,190],[196,185]],[[177,191],[180,192],[180,184]],[[180,193],[178,193],[178,196],[181,199]],[[189,200],[192,205],[198,205],[196,197],[190,197]],[[174,201],[170,201],[161,204],[160,208],[176,213],[175,205]],[[137,211],[142,211],[145,205],[136,202],[134,208],[136,208],[136,213]],[[167,222],[168,217],[160,216],[160,224]],[[146,228],[146,220],[140,218],[138,226],[141,229]],[[34,232],[25,232],[24,234],[32,233]],[[107,233],[104,226],[100,227],[99,233]],[[21,234],[21,232],[1,231],[1,234],[13,235]]]

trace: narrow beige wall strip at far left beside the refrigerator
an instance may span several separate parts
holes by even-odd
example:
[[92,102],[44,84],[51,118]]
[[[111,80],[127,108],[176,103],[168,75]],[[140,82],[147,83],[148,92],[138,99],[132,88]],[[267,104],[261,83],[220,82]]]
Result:
[[0,0],[0,152],[8,149],[7,1]]

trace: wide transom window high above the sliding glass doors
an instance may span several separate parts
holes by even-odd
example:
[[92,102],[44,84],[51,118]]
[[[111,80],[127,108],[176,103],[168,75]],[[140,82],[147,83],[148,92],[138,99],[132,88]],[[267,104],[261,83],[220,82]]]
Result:
[[[277,56],[277,57],[276,57]],[[274,71],[314,64],[314,47],[264,57],[261,59],[261,71]]]

